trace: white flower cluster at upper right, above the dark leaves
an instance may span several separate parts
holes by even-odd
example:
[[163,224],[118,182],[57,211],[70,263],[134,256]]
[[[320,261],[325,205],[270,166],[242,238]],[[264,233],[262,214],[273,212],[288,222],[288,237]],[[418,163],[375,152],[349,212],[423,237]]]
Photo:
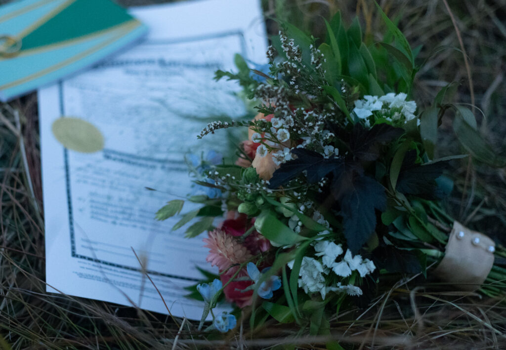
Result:
[[377,96],[364,96],[363,100],[355,101],[355,108],[353,112],[360,118],[365,119],[372,115],[374,111],[382,111],[383,114],[390,114],[395,110],[393,115],[387,115],[387,120],[402,120],[405,121],[416,118],[414,112],[416,110],[416,103],[414,101],[406,101],[407,95],[404,93],[394,94],[389,93],[382,97]]

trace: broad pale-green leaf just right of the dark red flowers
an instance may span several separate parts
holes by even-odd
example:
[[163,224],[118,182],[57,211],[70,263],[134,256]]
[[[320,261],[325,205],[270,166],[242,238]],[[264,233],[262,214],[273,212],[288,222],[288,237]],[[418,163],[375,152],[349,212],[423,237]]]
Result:
[[280,222],[270,210],[262,210],[255,221],[255,229],[267,239],[280,245],[295,244],[307,239]]

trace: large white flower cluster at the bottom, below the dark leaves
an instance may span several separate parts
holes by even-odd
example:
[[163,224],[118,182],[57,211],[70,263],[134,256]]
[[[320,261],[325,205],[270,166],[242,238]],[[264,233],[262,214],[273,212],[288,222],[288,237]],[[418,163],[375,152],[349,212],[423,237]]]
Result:
[[[342,291],[352,296],[362,295],[362,290],[352,284],[342,285],[339,282],[335,286],[327,286],[325,284],[325,275],[333,271],[338,276],[348,277],[352,271],[358,271],[360,277],[365,277],[376,269],[371,260],[362,259],[361,255],[352,256],[351,251],[348,249],[344,258],[336,262],[335,259],[343,254],[343,247],[341,244],[335,244],[330,241],[319,241],[315,244],[314,248],[316,250],[315,255],[322,257],[323,265],[313,257],[304,256],[301,271],[299,272],[299,287],[303,288],[308,294],[320,293],[323,299],[325,299],[325,295],[330,291]],[[293,261],[288,266],[291,269]]]

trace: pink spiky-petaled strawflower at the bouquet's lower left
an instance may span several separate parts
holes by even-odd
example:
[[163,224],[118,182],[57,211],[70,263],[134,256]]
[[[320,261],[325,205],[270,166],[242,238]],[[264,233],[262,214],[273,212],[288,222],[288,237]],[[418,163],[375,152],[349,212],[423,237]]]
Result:
[[211,266],[218,266],[220,271],[233,264],[242,264],[252,257],[245,246],[220,229],[210,231],[209,238],[204,238],[203,241],[207,243],[204,247],[209,248],[206,261]]

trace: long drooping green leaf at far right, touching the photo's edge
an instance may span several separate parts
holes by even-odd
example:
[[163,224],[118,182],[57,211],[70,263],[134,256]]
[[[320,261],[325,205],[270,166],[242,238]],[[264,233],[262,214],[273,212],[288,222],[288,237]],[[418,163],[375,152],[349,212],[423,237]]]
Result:
[[475,159],[495,167],[506,166],[506,158],[497,153],[483,140],[473,126],[457,114],[453,121],[453,130],[458,141]]

